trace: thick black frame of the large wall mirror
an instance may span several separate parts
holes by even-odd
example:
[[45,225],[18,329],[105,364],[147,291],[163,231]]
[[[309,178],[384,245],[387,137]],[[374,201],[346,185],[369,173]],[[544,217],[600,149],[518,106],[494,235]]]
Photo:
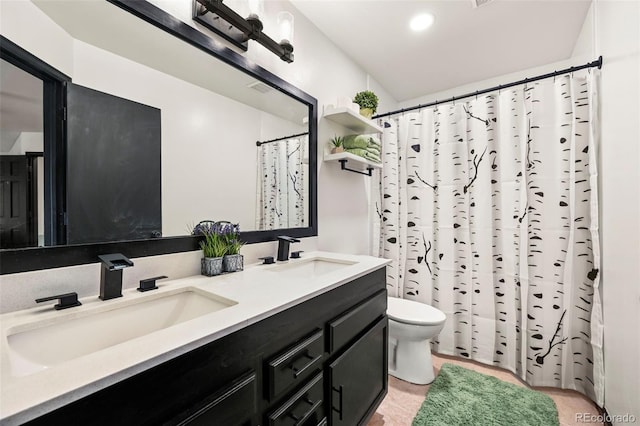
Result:
[[[279,235],[291,237],[314,237],[318,235],[318,101],[275,74],[256,65],[235,51],[220,46],[208,35],[180,21],[146,0],[107,0],[144,21],[160,28],[171,35],[189,43],[216,57],[224,63],[268,84],[280,92],[306,104],[309,107],[309,226],[304,228],[282,228],[266,231],[241,232],[241,238],[247,244],[275,241]],[[46,70],[48,75],[57,75],[60,80],[71,81],[55,68],[46,64],[31,53],[2,37],[2,58],[18,60],[32,70]],[[11,61],[13,62],[13,61]],[[57,121],[54,117],[51,119]],[[61,125],[60,125],[61,126]],[[57,125],[58,127],[58,125]],[[56,130],[57,132],[62,129]],[[62,137],[58,138],[62,140]],[[53,142],[53,141],[52,141]],[[46,143],[46,141],[45,141]],[[45,154],[46,156],[46,154]],[[46,161],[46,160],[45,160]],[[56,170],[54,167],[52,170]],[[60,268],[73,265],[98,263],[98,255],[105,253],[123,253],[127,257],[137,258],[157,256],[170,253],[181,253],[200,250],[200,237],[180,236],[163,237],[148,240],[115,241],[94,244],[78,244],[67,246],[27,247],[20,249],[0,250],[0,275],[41,269]]]

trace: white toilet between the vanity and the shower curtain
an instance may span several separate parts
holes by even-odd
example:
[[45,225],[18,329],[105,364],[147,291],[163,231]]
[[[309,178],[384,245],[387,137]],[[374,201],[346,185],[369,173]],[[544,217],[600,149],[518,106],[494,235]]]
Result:
[[424,303],[389,297],[389,374],[418,385],[435,378],[429,339],[440,333],[445,314]]

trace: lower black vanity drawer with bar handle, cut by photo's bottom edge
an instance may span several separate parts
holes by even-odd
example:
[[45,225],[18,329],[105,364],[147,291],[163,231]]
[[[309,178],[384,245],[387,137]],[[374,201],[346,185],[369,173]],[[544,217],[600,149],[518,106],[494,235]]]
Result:
[[[268,416],[269,426],[317,426],[324,418],[322,373]],[[326,424],[326,423],[325,423]]]

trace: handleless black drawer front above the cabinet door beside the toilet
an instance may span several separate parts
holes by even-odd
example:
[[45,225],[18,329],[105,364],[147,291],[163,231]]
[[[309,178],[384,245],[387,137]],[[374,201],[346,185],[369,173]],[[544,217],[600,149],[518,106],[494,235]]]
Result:
[[329,322],[329,353],[342,348],[387,311],[387,290],[381,290]]

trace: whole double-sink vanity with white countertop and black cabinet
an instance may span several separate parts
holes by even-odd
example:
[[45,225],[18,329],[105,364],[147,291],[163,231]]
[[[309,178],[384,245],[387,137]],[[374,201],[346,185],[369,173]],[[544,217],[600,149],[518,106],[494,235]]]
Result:
[[[366,423],[387,391],[386,263],[316,252],[219,277],[166,281],[153,295],[88,298],[62,314],[50,307],[6,314],[1,422]],[[100,345],[90,343],[92,325],[96,334],[105,322],[117,328],[125,310],[131,312],[122,327],[133,338],[92,346]],[[146,311],[141,321],[155,323],[152,331],[136,334],[138,311]],[[44,352],[55,342],[76,345],[65,340],[69,328],[87,333],[77,336],[78,352],[29,352],[35,339],[45,339]]]

